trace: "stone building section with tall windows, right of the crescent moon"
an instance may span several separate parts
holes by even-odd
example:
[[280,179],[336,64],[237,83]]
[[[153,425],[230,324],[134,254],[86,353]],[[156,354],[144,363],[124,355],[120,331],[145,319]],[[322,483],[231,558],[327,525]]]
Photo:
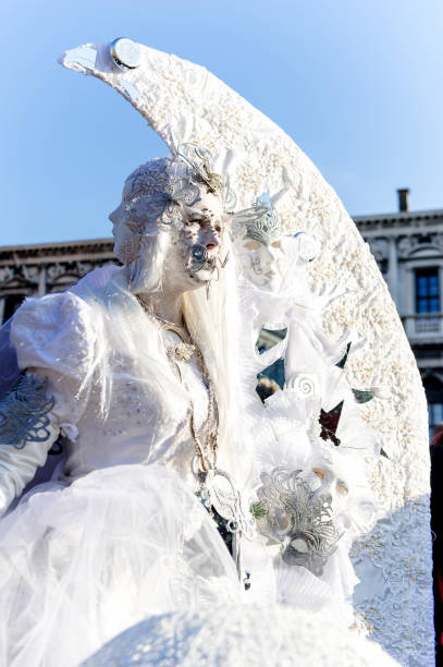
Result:
[[386,280],[420,368],[430,432],[443,422],[443,209],[354,218]]

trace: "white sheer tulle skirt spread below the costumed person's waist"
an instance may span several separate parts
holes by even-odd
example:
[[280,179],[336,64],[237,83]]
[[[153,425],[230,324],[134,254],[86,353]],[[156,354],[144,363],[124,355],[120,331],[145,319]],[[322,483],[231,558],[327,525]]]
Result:
[[163,466],[40,485],[0,521],[0,665],[78,665],[150,615],[241,595],[206,509]]

